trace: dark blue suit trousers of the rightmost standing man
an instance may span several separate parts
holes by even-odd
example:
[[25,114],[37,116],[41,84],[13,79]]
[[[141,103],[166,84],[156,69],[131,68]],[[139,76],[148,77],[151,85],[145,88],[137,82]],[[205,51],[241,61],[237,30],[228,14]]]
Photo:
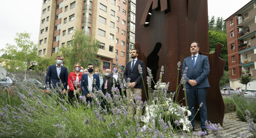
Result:
[[206,128],[205,121],[207,120],[207,109],[206,109],[206,95],[207,95],[207,88],[186,88],[186,95],[188,100],[188,109],[191,111],[191,115],[189,116],[189,120],[191,121],[192,126],[195,126],[195,104],[196,99],[198,101],[198,106],[202,104],[202,107],[199,108],[200,110],[200,121],[201,121],[201,128]]

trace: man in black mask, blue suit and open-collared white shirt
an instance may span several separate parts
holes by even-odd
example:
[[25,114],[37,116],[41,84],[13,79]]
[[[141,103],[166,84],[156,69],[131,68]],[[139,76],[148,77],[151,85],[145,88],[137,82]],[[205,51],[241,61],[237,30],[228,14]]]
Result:
[[[96,79],[96,84],[94,84]],[[82,95],[86,96],[86,101],[92,101],[90,93],[94,93],[93,88],[96,87],[98,91],[100,89],[100,76],[93,73],[93,65],[88,64],[88,73],[84,73],[81,78],[81,91]]]

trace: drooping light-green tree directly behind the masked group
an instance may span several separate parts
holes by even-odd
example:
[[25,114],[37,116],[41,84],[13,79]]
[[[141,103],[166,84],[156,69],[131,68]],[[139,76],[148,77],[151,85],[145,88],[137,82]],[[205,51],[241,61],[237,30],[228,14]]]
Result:
[[68,71],[73,71],[76,62],[86,67],[88,63],[93,63],[95,67],[100,67],[100,60],[96,56],[99,45],[100,41],[97,39],[92,40],[82,30],[75,30],[71,45],[65,45],[60,48],[60,53],[64,56],[65,66],[68,68]]

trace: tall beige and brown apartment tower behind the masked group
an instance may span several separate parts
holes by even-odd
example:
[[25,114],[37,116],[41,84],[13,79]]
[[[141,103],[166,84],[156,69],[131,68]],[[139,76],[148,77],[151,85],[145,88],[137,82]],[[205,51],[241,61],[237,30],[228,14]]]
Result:
[[97,57],[103,70],[124,69],[135,43],[136,0],[42,0],[38,55],[47,58],[70,43],[74,30],[100,41]]

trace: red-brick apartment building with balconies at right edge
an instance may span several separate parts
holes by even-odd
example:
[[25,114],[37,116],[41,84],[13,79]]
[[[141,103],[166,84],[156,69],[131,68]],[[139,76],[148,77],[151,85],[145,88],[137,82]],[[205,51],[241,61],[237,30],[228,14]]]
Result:
[[242,87],[238,78],[243,74],[254,80],[247,89],[256,89],[256,0],[251,0],[237,12],[228,17],[226,22],[228,42],[228,70],[230,87]]

